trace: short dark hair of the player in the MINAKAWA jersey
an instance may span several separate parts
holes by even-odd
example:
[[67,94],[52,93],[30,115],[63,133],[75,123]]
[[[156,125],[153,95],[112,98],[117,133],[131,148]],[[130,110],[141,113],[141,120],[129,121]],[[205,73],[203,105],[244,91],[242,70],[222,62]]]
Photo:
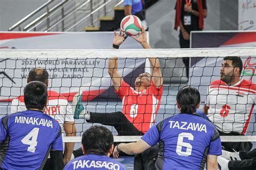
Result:
[[32,81],[26,84],[24,88],[24,102],[26,109],[42,110],[47,102],[48,94],[47,87],[39,81]]

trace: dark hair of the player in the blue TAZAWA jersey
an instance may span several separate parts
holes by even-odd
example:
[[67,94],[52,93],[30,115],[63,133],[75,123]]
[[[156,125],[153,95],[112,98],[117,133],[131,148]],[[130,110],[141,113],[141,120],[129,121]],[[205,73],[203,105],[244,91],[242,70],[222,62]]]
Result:
[[180,111],[192,114],[197,111],[197,105],[200,103],[200,93],[196,88],[185,86],[177,94],[177,102],[180,105]]

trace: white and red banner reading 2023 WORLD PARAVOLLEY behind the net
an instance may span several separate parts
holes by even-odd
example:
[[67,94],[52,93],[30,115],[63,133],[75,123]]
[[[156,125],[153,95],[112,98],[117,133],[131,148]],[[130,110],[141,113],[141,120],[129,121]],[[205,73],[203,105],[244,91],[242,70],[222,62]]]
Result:
[[[0,49],[112,49],[113,32],[0,32]],[[127,38],[120,48],[142,48]],[[3,56],[2,56],[3,57]],[[131,56],[130,56],[131,57]],[[83,91],[83,100],[116,97],[107,72],[107,59],[40,58],[0,59],[0,101],[10,101],[23,94],[26,78],[32,68],[42,67],[49,73],[51,90],[64,96]],[[145,59],[119,59],[118,68],[127,83],[143,72]],[[125,69],[123,69],[125,67]],[[137,68],[137,69],[136,69]],[[110,95],[111,94],[111,95]],[[69,98],[71,100],[72,98]]]

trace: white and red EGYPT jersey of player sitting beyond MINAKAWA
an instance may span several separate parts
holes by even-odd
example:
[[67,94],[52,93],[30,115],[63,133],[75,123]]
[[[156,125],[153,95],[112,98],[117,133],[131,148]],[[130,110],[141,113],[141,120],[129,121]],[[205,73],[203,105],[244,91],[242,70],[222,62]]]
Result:
[[[25,111],[24,95],[12,100],[11,114],[14,112]],[[61,94],[48,90],[48,105],[44,113],[54,118],[63,130],[64,122],[74,122],[71,105]]]

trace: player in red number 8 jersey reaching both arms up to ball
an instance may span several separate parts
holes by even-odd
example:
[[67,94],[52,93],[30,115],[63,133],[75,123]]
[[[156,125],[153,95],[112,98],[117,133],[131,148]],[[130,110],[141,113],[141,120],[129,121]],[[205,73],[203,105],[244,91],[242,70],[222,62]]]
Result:
[[[138,41],[144,49],[151,48],[147,43],[146,32],[144,28],[138,37],[132,36]],[[119,35],[114,32],[113,48],[118,49],[125,40],[120,32]],[[111,125],[117,130],[119,136],[142,136],[155,123],[157,112],[160,107],[160,100],[163,94],[163,77],[160,70],[160,63],[157,58],[149,58],[152,67],[152,74],[140,74],[134,88],[127,84],[117,70],[117,58],[109,60],[109,74],[112,79],[114,89],[122,99],[123,111],[112,113],[95,113],[86,111],[81,103],[82,92],[75,95],[72,105],[74,118],[86,119],[90,123],[101,123]],[[144,154],[154,155],[158,153],[158,147],[146,150]],[[82,154],[82,150],[73,152],[75,157]],[[145,162],[142,155],[136,155],[134,158],[134,167],[142,169]]]

